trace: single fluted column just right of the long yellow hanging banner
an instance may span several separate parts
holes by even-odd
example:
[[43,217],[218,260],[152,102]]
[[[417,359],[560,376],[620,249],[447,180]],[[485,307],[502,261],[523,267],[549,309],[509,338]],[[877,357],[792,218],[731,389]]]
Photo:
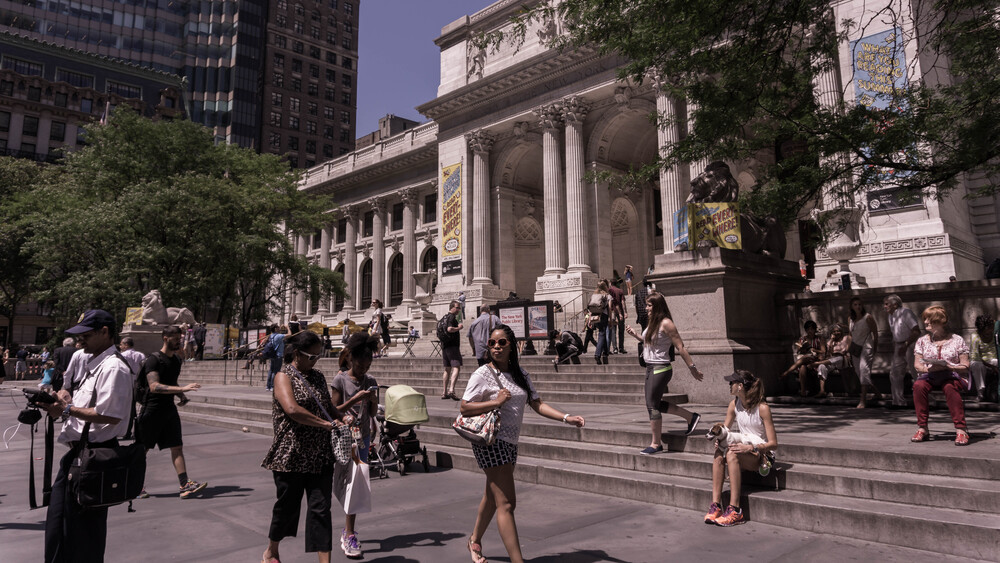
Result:
[[493,135],[474,131],[465,136],[472,150],[472,283],[491,284],[490,149]]

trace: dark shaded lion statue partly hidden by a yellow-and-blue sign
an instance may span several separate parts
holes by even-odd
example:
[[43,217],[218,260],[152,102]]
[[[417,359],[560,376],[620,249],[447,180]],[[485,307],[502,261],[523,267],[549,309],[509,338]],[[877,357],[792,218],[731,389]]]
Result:
[[[729,165],[716,160],[705,171],[691,180],[691,195],[687,203],[726,203],[738,201],[740,184],[733,177]],[[740,233],[743,250],[784,259],[787,241],[785,230],[774,217],[761,219],[750,213],[740,213]]]

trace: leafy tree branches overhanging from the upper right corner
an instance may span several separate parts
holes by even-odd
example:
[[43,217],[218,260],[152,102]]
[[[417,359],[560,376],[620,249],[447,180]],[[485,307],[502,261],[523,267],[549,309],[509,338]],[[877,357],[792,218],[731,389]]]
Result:
[[[567,33],[555,46],[622,55],[623,79],[662,77],[697,109],[688,136],[654,168],[767,153],[772,163],[758,171],[747,203],[788,221],[824,191],[841,203],[889,187],[943,198],[969,173],[983,178],[975,195],[997,191],[998,8],[881,0],[866,4],[863,20],[835,21],[829,0],[562,0],[525,8],[512,26],[476,41],[519,44],[533,25],[559,18]],[[816,84],[839,67],[848,39],[887,28],[899,28],[917,56],[897,70],[903,53],[894,48],[873,64],[889,64],[890,78],[907,72],[908,81],[877,84],[883,93],[855,105],[822,99]],[[842,88],[853,88],[851,79],[842,77]]]

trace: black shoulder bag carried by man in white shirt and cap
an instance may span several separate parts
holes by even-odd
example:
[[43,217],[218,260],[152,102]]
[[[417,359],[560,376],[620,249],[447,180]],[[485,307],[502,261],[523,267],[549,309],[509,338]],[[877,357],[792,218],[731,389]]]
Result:
[[[95,388],[88,408],[96,404]],[[146,448],[138,442],[91,447],[90,422],[87,422],[66,479],[76,502],[84,508],[104,508],[131,501],[139,496],[146,481]]]

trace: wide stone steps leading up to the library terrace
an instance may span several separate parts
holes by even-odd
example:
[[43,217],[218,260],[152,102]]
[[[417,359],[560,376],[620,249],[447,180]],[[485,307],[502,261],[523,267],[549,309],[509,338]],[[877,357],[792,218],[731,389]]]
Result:
[[[515,477],[704,512],[711,502],[714,453],[704,432],[710,421],[722,420],[724,406],[693,406],[704,418],[690,437],[683,436],[683,421],[666,416],[668,452],[638,455],[649,443],[644,372],[634,355],[611,360],[606,366],[584,360],[556,371],[551,357],[522,358],[545,401],[585,416],[587,425],[578,429],[526,414]],[[462,368],[459,394],[474,369],[475,362],[471,363],[472,367]],[[458,407],[440,399],[440,365],[440,358],[380,358],[371,374],[380,384],[406,384],[426,395],[430,421],[417,433],[432,464],[478,471],[468,443],[450,428]],[[335,366],[333,360],[324,359],[318,367],[332,378]],[[205,387],[189,395],[191,403],[182,409],[184,420],[269,435],[266,373],[235,369],[240,367],[242,362],[225,367],[222,362],[187,363],[182,383],[198,381]],[[674,395],[673,400],[683,403],[686,397]],[[940,440],[911,447],[899,436],[886,440],[869,430],[855,433],[845,422],[856,416],[855,409],[776,407],[774,411],[781,441],[778,464],[766,478],[744,473],[741,505],[751,521],[1000,561],[1000,451],[991,435],[977,438],[970,422],[974,443],[967,448]],[[872,410],[858,412],[857,416],[883,416]],[[912,413],[884,416],[890,418],[855,423],[857,428],[912,433]],[[980,416],[992,417],[987,420],[994,427],[1000,425],[992,413]],[[845,429],[826,431],[841,426]]]

